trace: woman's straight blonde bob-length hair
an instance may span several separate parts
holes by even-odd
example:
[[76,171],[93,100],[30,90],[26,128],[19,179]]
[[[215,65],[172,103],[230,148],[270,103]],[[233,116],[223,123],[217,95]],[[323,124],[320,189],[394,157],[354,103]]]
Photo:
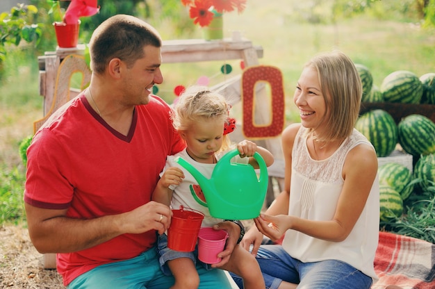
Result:
[[322,122],[331,128],[325,135],[318,136],[317,140],[347,138],[358,119],[363,94],[361,79],[354,63],[345,53],[332,51],[315,56],[305,67],[313,67],[318,72],[326,106]]

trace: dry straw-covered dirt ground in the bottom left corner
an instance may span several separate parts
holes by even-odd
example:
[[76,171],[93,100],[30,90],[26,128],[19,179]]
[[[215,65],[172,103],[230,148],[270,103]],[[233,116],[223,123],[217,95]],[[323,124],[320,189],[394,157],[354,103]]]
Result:
[[65,288],[56,270],[43,267],[24,226],[0,226],[0,288]]

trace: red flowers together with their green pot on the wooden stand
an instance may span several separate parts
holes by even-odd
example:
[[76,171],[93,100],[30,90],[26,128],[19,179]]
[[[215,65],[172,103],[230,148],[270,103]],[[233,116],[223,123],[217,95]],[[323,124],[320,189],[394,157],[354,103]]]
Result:
[[181,0],[189,8],[189,17],[193,23],[204,28],[206,40],[223,38],[223,13],[245,10],[247,0]]

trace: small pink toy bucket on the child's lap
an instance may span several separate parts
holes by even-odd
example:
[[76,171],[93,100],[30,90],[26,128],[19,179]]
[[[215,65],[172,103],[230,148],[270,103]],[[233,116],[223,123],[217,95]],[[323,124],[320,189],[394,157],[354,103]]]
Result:
[[198,258],[207,264],[215,264],[222,261],[217,254],[224,251],[228,233],[224,230],[213,228],[201,228],[198,235]]

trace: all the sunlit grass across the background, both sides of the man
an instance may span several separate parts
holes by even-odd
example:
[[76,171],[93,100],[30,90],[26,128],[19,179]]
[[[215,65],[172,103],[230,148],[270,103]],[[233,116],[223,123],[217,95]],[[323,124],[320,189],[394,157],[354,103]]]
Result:
[[[395,11],[399,1],[376,1],[376,9],[368,15],[337,18],[335,24],[329,13],[320,17],[322,21],[318,24],[310,24],[303,14],[306,7],[297,6],[299,2],[277,0],[265,5],[262,0],[249,0],[242,14],[224,15],[224,37],[231,37],[231,31],[241,31],[254,45],[263,47],[261,65],[281,69],[288,122],[299,121],[293,92],[304,63],[316,53],[331,49],[344,51],[355,63],[370,69],[374,84],[378,86],[384,77],[400,69],[418,76],[435,72],[435,31],[420,28],[413,13],[403,15]],[[303,4],[302,1],[299,5]],[[167,25],[167,19],[163,20],[149,22],[161,31],[164,39],[202,37],[199,27],[195,27],[192,34],[176,35],[174,26]],[[224,63],[233,67],[229,76],[220,73]],[[231,60],[163,65],[165,82],[159,85],[158,94],[172,102],[175,85],[196,83],[203,75],[208,76],[213,85],[240,74],[239,64],[239,60]],[[0,224],[24,220],[25,167],[19,156],[19,144],[33,134],[33,121],[42,117],[37,56],[15,49],[8,54],[5,68],[6,75],[0,80]]]

